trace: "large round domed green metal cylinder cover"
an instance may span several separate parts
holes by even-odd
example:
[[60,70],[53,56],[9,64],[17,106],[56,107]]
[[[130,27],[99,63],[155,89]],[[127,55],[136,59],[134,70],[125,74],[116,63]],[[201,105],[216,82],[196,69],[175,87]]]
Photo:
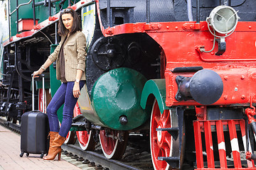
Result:
[[[102,74],[92,88],[92,107],[103,123],[114,130],[131,130],[148,120],[147,113],[139,105],[146,78],[134,69],[118,68]],[[119,123],[119,117],[127,116],[128,123]]]

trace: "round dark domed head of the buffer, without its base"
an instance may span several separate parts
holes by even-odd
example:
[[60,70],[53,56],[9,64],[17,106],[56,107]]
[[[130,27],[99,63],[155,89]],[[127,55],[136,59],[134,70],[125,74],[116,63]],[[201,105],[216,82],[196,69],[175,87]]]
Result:
[[210,105],[218,101],[223,94],[223,81],[213,70],[202,69],[193,75],[189,88],[195,101]]

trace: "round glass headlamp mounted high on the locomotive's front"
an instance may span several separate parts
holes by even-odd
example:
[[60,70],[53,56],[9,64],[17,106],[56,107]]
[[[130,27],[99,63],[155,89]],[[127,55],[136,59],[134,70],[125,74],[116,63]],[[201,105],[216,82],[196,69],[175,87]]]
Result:
[[234,8],[230,6],[217,6],[210,12],[210,16],[206,21],[216,32],[228,36],[228,33],[231,34],[235,30],[238,19],[238,11],[235,11]]

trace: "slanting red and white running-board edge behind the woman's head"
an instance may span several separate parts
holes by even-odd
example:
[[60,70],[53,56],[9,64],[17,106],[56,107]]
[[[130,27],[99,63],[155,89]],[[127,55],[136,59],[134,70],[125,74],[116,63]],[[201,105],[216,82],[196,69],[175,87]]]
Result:
[[[81,8],[82,6],[85,6],[86,4],[92,3],[93,0],[81,0],[77,4],[74,4],[73,6],[69,6],[68,8],[73,8],[74,10],[77,10],[78,8]],[[60,12],[55,14],[54,16],[50,16],[47,20],[38,23],[36,26],[33,26],[32,30],[24,31],[22,33],[17,34],[16,36],[13,36],[10,38],[10,40],[6,40],[3,45],[9,45],[11,42],[16,42],[18,40],[21,40],[22,38],[28,38],[32,35],[40,32],[43,28],[46,28],[47,26],[50,26],[51,24],[58,21],[60,16]]]

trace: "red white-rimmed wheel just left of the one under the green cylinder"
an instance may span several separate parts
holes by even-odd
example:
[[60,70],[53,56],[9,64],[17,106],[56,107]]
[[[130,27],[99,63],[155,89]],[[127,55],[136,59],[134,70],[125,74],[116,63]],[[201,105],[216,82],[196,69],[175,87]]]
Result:
[[[78,106],[78,103],[76,103],[74,108],[74,117],[81,115],[80,108]],[[95,149],[96,142],[93,140],[93,136],[95,135],[95,132],[90,130],[90,133],[88,134],[87,131],[77,131],[76,135],[78,137],[78,142],[80,147],[83,150],[86,151],[93,151]]]

